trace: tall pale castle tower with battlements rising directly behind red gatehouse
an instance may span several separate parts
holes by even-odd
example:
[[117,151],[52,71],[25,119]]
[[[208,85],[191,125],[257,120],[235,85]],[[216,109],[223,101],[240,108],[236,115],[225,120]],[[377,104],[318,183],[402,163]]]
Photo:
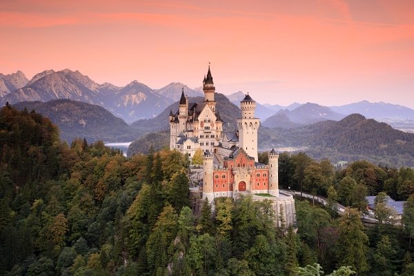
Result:
[[237,118],[237,128],[239,129],[239,148],[250,157],[254,157],[257,162],[257,130],[259,129],[260,121],[255,118],[256,102],[246,95],[240,101],[240,109],[242,109],[242,117]]

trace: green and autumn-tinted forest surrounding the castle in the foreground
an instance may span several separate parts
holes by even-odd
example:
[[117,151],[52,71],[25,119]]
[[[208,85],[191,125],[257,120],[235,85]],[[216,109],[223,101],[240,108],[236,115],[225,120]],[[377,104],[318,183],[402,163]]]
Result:
[[[250,197],[196,211],[175,150],[126,158],[101,141],[69,145],[49,119],[11,106],[0,145],[0,275],[414,275],[412,168],[283,152],[280,188],[329,204],[297,198],[295,227],[275,228],[269,202]],[[365,195],[377,196],[375,226],[360,219]],[[406,200],[401,223],[386,195]]]

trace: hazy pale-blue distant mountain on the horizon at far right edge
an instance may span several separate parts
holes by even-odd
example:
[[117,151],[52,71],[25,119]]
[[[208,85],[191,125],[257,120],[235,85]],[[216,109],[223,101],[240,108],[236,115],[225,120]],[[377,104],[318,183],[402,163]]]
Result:
[[414,110],[400,106],[397,104],[383,103],[370,103],[369,101],[359,101],[357,103],[350,103],[344,106],[332,106],[332,110],[342,113],[351,114],[359,113],[368,118],[380,119],[380,118],[414,118]]

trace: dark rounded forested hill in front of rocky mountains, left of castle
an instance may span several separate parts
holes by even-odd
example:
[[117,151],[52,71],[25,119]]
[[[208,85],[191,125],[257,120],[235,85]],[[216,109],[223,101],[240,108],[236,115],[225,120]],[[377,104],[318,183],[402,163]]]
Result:
[[23,101],[13,104],[18,110],[35,110],[48,117],[59,127],[61,139],[70,143],[75,138],[86,138],[88,142],[131,141],[142,132],[132,130],[126,122],[112,115],[105,108],[82,101],[57,99],[46,103]]

